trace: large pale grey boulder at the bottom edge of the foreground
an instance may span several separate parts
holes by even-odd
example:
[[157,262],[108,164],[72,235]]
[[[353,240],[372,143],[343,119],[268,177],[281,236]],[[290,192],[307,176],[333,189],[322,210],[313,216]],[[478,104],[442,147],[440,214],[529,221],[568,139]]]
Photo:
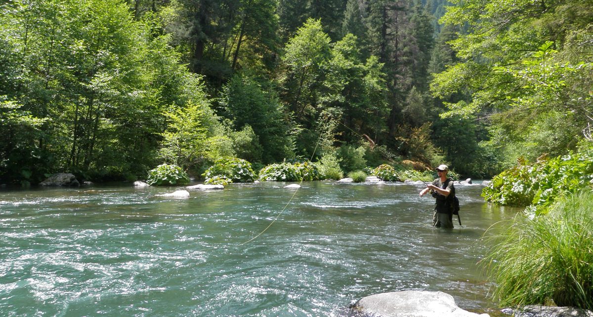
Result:
[[406,290],[366,296],[350,308],[349,317],[489,317],[459,308],[443,292]]

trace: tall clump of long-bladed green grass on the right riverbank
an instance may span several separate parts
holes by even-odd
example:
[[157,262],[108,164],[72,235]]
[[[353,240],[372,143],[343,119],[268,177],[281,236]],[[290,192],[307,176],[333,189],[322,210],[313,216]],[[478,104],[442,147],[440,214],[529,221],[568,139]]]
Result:
[[501,306],[541,304],[593,309],[593,192],[556,201],[550,212],[511,226],[490,239],[484,259],[493,297]]

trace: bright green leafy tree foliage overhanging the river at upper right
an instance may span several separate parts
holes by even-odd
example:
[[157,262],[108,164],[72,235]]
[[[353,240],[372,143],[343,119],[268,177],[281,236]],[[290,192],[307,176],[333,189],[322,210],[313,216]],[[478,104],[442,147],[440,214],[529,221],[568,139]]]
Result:
[[450,42],[462,60],[435,76],[433,95],[471,96],[449,101],[449,114],[493,114],[490,145],[503,154],[502,165],[575,149],[591,117],[592,65],[584,50],[592,46],[573,39],[591,36],[582,18],[591,16],[591,1],[454,3],[442,21],[470,29]]

